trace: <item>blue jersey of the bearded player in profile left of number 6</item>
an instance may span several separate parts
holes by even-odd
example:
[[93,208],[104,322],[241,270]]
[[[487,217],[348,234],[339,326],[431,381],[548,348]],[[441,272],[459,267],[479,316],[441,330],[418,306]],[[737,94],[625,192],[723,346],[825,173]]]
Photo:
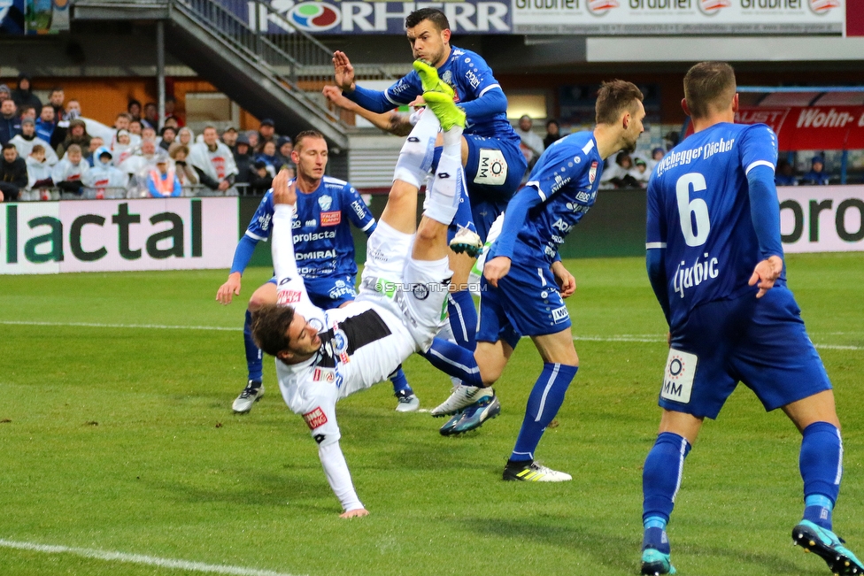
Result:
[[[538,264],[552,264],[564,238],[594,205],[602,173],[603,158],[592,132],[570,134],[552,143],[537,160],[528,183],[516,193],[537,197],[516,234],[513,254],[523,262],[530,257]],[[504,236],[492,245],[489,258],[498,255],[496,245]]]

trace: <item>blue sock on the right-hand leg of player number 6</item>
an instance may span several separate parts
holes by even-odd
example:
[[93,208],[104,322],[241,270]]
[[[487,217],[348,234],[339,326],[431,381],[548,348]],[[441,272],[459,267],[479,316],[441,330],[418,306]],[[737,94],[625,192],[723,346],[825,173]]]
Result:
[[843,475],[843,441],[837,426],[814,422],[804,429],[798,466],[804,480],[804,519],[831,530],[831,511]]

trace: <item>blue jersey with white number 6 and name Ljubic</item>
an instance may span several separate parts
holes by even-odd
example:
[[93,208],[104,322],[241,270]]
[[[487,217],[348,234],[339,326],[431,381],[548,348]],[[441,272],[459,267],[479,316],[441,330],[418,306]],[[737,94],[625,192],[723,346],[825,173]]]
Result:
[[691,135],[654,167],[646,248],[666,249],[672,326],[701,303],[753,289],[747,283],[761,257],[747,173],[760,165],[773,170],[776,162],[771,128],[721,123]]

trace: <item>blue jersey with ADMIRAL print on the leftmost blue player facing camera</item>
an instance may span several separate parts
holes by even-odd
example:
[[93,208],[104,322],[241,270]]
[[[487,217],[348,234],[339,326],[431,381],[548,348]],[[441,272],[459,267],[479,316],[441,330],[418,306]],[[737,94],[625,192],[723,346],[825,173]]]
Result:
[[[273,213],[270,190],[258,204],[246,235],[256,241],[266,240]],[[349,222],[366,234],[372,234],[375,226],[372,212],[348,182],[325,176],[311,194],[297,190],[297,216],[292,227],[297,272],[301,276],[357,274]]]

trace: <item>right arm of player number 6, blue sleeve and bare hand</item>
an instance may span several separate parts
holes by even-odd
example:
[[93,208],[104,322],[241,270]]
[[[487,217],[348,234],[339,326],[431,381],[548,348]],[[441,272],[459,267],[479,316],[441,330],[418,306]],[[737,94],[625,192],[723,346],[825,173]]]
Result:
[[750,215],[759,242],[760,262],[750,278],[758,286],[757,298],[774,287],[783,273],[783,242],[780,239],[780,204],[774,172],[777,158],[776,136],[767,126],[754,126],[744,133],[741,161],[750,196]]

